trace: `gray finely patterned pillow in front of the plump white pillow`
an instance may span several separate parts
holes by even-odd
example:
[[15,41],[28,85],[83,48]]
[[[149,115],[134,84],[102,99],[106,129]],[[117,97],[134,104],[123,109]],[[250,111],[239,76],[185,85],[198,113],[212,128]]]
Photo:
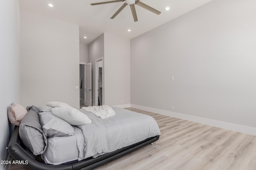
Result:
[[65,137],[75,135],[74,128],[51,112],[38,113],[44,134],[47,137]]

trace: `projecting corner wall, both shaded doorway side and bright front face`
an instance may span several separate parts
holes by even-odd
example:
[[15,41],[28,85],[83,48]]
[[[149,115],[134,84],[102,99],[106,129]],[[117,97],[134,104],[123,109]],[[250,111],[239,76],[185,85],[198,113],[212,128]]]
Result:
[[95,60],[100,57],[104,57],[104,104],[130,104],[130,40],[104,33],[88,45],[88,62],[92,63],[93,103]]

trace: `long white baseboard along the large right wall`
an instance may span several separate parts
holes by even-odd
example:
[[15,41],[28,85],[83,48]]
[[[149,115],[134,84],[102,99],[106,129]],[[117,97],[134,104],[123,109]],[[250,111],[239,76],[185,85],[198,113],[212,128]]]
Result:
[[130,107],[256,136],[256,128],[255,127],[238,125],[238,124],[234,124],[234,123],[228,123],[228,122],[224,122],[224,121],[207,119],[207,118],[203,118],[203,117],[196,117],[196,116],[192,116],[192,115],[186,115],[186,114],[182,114],[182,113],[176,113],[176,112],[172,112],[172,111],[166,111],[166,110],[161,110],[161,109],[156,109],[156,108],[146,107],[146,106],[140,106],[140,105],[135,105],[135,104],[130,104]]

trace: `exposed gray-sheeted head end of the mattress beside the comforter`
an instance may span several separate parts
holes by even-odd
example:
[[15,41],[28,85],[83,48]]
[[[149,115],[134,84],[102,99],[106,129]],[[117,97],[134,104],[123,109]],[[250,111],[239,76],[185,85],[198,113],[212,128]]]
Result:
[[73,126],[75,134],[68,137],[49,137],[47,139],[47,148],[42,159],[46,164],[59,165],[66,162],[82,160],[84,158],[84,138],[82,131]]

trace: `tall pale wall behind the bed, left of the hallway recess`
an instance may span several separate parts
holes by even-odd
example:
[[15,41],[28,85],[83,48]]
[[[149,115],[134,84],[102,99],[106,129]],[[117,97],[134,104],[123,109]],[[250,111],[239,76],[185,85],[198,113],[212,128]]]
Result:
[[78,25],[21,12],[21,102],[79,108]]

